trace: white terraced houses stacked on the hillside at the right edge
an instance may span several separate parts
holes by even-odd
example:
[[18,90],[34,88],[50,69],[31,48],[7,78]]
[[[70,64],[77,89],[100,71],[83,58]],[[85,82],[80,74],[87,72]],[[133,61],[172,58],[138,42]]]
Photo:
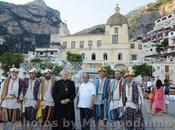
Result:
[[155,27],[143,41],[144,60],[154,66],[154,75],[175,83],[175,13],[156,20]]

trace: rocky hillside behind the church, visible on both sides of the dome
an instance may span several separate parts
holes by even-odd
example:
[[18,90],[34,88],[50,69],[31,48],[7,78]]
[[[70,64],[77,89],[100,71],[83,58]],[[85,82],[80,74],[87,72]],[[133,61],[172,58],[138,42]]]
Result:
[[[144,36],[147,32],[153,29],[154,22],[163,15],[175,12],[175,0],[165,0],[165,2],[157,0],[155,3],[150,3],[138,7],[130,11],[125,17],[129,24],[129,38],[135,40],[137,37]],[[105,24],[96,25],[76,34],[92,34],[104,33]]]

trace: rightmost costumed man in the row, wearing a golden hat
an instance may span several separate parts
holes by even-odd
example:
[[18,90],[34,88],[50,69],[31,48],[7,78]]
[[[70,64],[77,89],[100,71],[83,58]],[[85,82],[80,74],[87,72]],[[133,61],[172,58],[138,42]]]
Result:
[[133,74],[126,72],[122,89],[122,98],[126,98],[123,121],[127,130],[144,130],[142,113],[143,93],[141,87],[133,80]]

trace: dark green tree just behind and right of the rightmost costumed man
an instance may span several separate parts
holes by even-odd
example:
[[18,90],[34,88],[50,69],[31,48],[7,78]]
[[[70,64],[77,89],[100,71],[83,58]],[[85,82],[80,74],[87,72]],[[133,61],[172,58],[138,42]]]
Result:
[[152,76],[153,72],[155,71],[152,65],[147,65],[146,63],[141,65],[134,65],[132,69],[135,76]]

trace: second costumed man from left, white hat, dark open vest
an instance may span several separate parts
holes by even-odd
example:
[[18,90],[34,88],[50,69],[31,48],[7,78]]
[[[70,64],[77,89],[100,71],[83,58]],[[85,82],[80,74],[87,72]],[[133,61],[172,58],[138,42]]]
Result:
[[[25,119],[31,123],[35,120],[36,109],[39,104],[39,88],[40,79],[36,78],[37,70],[35,68],[29,71],[29,78],[23,79],[23,96],[24,106],[23,112],[25,113]],[[30,130],[32,127],[30,126]]]

